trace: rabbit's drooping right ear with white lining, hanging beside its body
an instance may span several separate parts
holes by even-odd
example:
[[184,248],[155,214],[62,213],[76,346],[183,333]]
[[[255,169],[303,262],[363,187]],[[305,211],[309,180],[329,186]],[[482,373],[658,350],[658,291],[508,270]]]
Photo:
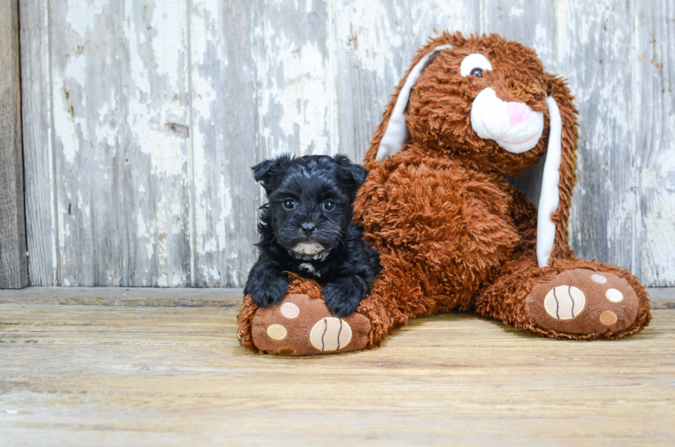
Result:
[[574,258],[568,243],[572,189],[577,181],[577,109],[565,81],[546,74],[550,134],[537,216],[537,262]]

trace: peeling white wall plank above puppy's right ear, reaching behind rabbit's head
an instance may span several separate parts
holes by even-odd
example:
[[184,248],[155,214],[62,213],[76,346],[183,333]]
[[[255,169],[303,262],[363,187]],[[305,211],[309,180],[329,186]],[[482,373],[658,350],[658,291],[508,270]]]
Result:
[[340,147],[364,156],[417,48],[444,30],[480,31],[478,1],[336,1],[335,70]]

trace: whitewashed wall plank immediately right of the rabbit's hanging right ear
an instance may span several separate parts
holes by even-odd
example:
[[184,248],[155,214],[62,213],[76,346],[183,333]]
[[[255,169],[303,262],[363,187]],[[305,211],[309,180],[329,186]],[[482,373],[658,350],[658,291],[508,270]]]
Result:
[[579,108],[570,245],[577,256],[597,257],[641,278],[645,266],[636,261],[639,253],[633,246],[639,211],[632,138],[636,56],[631,8],[628,2],[611,0],[563,6],[558,58]]

